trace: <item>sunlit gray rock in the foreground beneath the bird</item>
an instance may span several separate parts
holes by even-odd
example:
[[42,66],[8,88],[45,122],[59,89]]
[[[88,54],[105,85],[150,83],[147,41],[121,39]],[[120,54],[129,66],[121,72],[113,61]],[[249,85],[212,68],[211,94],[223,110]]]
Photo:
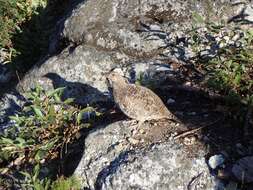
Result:
[[131,148],[131,127],[116,122],[92,131],[75,175],[89,189],[217,190],[222,184],[210,175],[203,146],[173,140]]

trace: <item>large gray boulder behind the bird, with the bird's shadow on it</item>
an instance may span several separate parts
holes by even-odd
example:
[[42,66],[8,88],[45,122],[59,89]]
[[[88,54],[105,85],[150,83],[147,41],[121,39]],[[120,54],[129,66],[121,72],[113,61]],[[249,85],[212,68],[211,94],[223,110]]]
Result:
[[[133,80],[143,75],[145,81],[154,79],[152,83],[157,84],[173,74],[170,60],[185,61],[195,55],[186,44],[177,42],[192,27],[193,13],[206,20],[229,20],[245,6],[233,6],[226,0],[83,1],[63,22],[61,38],[73,44],[36,65],[18,90],[27,91],[36,84],[46,89],[68,86],[65,95],[76,98],[77,103],[107,101],[103,74],[115,66]],[[213,56],[216,50],[204,52]]]

